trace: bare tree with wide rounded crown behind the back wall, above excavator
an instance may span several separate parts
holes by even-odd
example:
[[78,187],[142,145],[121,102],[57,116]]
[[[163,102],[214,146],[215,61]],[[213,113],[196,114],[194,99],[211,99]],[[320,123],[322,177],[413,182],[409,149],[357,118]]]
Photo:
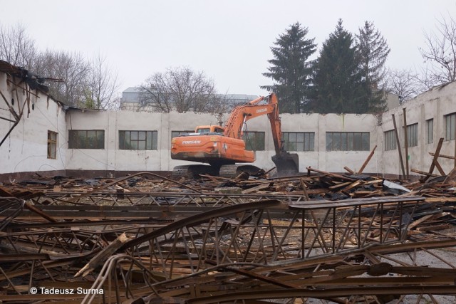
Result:
[[217,95],[214,81],[203,72],[167,68],[140,86],[140,108],[155,112],[224,112],[224,98]]

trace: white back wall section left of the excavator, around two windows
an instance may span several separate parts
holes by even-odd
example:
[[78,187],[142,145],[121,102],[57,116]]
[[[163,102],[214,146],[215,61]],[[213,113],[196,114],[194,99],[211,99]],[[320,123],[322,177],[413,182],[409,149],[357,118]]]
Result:
[[[105,149],[68,149],[66,164],[72,170],[170,171],[188,162],[171,159],[171,131],[216,125],[217,117],[201,113],[98,112],[70,110],[69,130],[105,130]],[[120,130],[157,131],[157,150],[119,150]],[[68,134],[68,132],[67,132]]]

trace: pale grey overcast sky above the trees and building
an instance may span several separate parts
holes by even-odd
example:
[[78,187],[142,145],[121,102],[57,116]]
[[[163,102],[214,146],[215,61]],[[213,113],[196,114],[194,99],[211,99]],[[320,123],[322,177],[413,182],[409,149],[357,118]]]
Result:
[[213,78],[221,93],[264,95],[261,73],[276,38],[298,21],[318,51],[339,18],[351,33],[372,21],[391,48],[386,65],[423,66],[423,32],[456,16],[455,0],[0,0],[0,23],[21,23],[40,50],[101,53],[118,73],[120,91],[153,73],[188,66]]

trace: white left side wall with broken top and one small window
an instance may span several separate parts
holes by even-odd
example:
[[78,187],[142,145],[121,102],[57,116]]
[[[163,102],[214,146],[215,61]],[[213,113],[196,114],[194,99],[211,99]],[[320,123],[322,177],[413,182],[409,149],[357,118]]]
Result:
[[[10,80],[13,80],[10,78]],[[19,80],[16,79],[19,83]],[[0,73],[0,91],[19,114],[19,105],[24,105],[26,93],[23,88],[7,82],[7,75]],[[66,164],[66,121],[61,104],[36,90],[32,91],[29,107],[24,107],[24,114],[9,137],[0,146],[0,174],[17,172],[41,172],[65,169]],[[19,100],[18,100],[19,98]],[[33,108],[32,109],[32,105]],[[14,120],[3,97],[0,96],[0,117]],[[30,112],[28,113],[28,109]],[[10,130],[13,122],[0,119],[0,140]],[[47,158],[48,130],[57,132],[56,159]]]

